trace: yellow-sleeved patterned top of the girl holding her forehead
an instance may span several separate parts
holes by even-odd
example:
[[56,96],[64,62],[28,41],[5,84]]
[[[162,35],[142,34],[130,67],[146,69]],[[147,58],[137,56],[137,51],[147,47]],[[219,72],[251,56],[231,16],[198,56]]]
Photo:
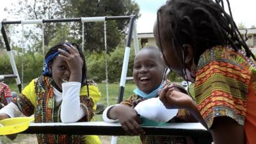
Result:
[[[13,101],[26,116],[34,114],[36,123],[61,122],[61,105],[54,104],[54,95],[51,77],[38,77],[33,79],[19,95],[18,99]],[[87,88],[83,86],[80,91],[81,106],[86,111],[86,115],[79,122],[89,122],[93,117],[94,102],[100,97],[97,85],[92,81],[88,82],[90,97],[87,97]],[[94,100],[93,100],[94,99]],[[96,108],[96,107],[95,107]],[[84,130],[86,131],[86,130]],[[90,138],[94,136],[65,135],[65,134],[36,134],[38,143],[86,143],[93,141]],[[87,137],[87,138],[86,138]]]

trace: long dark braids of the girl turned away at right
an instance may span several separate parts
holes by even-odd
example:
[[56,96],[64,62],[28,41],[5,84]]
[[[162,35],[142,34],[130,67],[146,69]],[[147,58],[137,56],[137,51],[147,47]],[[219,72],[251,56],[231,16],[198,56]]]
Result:
[[[169,24],[165,26],[170,27],[170,31],[164,34],[172,40],[180,63],[184,64],[181,58],[183,44],[194,48],[195,63],[204,51],[216,45],[230,46],[235,51],[244,49],[246,56],[252,56],[256,61],[232,18],[228,0],[227,4],[229,14],[225,12],[223,0],[169,0],[159,8],[158,32],[163,23],[159,19],[164,17]],[[159,39],[161,48],[160,34]]]

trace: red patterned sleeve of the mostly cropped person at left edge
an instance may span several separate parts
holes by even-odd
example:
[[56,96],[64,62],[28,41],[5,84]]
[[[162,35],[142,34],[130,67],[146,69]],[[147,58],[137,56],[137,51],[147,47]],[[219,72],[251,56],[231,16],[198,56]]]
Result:
[[[0,104],[6,106],[12,102],[12,93],[10,86],[4,83],[0,83]],[[0,106],[1,109],[1,106]]]

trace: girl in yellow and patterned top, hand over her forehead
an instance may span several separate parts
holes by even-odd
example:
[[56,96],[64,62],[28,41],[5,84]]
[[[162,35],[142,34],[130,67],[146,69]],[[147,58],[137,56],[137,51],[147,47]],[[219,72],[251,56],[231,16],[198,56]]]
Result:
[[[34,115],[36,123],[90,122],[100,92],[86,79],[84,54],[77,44],[55,45],[45,55],[42,76],[33,79],[0,111],[0,120]],[[86,129],[84,129],[86,131]],[[36,134],[38,143],[100,143],[98,136]]]

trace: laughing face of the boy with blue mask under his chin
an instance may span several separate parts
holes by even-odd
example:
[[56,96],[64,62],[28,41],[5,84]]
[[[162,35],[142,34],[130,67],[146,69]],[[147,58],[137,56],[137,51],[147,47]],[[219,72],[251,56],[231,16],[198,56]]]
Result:
[[142,50],[134,60],[133,79],[136,86],[145,93],[155,90],[162,82],[164,66],[160,54],[153,50]]

